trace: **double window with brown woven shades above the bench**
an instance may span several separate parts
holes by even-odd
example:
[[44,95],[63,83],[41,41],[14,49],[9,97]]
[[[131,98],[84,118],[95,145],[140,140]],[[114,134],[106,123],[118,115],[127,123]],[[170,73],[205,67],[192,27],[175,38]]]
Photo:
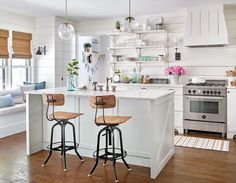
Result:
[[[0,29],[0,90],[31,82],[31,40],[31,34],[16,31],[12,31],[9,40],[9,31]],[[12,45],[11,55],[8,41]]]

